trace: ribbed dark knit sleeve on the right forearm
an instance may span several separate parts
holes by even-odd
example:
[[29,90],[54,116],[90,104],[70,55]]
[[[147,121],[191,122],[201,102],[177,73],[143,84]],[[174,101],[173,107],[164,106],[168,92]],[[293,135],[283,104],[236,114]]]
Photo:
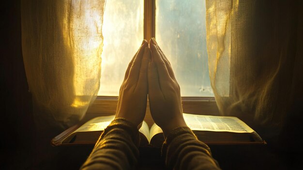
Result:
[[178,127],[167,135],[162,157],[169,170],[220,170],[210,148],[188,127]]

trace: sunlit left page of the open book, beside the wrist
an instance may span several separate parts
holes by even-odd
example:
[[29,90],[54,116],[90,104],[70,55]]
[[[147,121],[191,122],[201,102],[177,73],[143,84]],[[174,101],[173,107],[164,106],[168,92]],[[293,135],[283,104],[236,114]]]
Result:
[[115,119],[115,115],[100,116],[91,119],[85,124],[81,125],[73,133],[87,132],[87,131],[102,131]]

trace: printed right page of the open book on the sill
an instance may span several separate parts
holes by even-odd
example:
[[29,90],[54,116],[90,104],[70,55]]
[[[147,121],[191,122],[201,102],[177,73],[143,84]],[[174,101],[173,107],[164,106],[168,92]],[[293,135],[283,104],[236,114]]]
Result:
[[232,116],[209,116],[183,113],[185,123],[192,130],[215,131],[215,132],[254,132],[247,124],[237,117]]

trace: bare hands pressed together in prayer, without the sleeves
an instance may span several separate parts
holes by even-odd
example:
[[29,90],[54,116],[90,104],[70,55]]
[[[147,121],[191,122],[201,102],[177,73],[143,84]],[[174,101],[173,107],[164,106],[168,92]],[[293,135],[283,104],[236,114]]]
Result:
[[139,128],[145,117],[147,97],[152,119],[164,135],[176,127],[186,126],[180,86],[154,38],[150,43],[143,40],[128,65],[120,88],[116,118],[125,118]]

